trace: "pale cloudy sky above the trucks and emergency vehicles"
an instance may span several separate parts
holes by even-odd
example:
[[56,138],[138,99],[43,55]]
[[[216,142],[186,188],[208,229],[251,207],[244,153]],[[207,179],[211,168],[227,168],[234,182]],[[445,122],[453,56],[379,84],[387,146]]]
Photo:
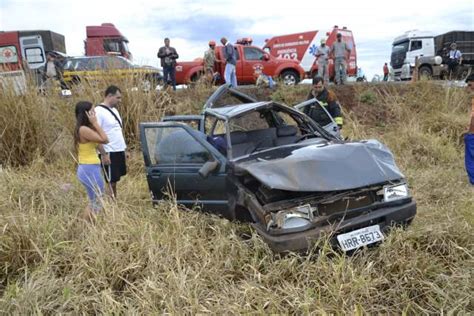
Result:
[[86,25],[103,22],[129,39],[135,63],[153,66],[159,65],[156,52],[164,37],[184,61],[201,57],[209,39],[222,36],[232,42],[250,36],[261,47],[275,35],[347,26],[358,66],[371,79],[389,62],[393,38],[407,30],[474,30],[474,0],[0,0],[0,31],[55,31],[65,35],[69,55],[83,55]]

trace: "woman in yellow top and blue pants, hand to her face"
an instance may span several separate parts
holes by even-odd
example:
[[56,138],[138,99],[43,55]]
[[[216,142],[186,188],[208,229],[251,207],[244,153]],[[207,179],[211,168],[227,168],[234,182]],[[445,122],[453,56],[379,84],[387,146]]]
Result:
[[100,160],[97,145],[107,144],[109,139],[100,127],[92,103],[81,101],[76,104],[76,129],[74,143],[77,147],[79,166],[77,177],[84,185],[89,196],[83,218],[91,220],[92,215],[100,211],[100,196],[104,192],[104,180],[100,172]]

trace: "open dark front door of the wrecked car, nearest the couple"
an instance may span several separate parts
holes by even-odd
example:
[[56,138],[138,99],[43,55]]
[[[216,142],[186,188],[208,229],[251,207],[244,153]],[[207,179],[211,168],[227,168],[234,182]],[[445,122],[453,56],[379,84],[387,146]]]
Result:
[[227,211],[226,158],[203,133],[179,122],[140,123],[140,140],[154,203],[171,192],[178,204]]

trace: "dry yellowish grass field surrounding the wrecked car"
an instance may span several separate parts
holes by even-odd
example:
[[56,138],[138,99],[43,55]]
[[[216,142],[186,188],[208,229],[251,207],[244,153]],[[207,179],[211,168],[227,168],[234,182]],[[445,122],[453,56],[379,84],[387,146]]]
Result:
[[[124,89],[129,175],[118,202],[106,202],[95,225],[83,223],[73,105],[101,101],[102,89],[78,88],[69,99],[0,95],[0,313],[474,312],[465,91],[429,82],[338,87],[344,136],[392,149],[418,215],[407,230],[353,256],[323,240],[308,255],[279,257],[246,224],[173,202],[151,206],[137,124],[198,113],[211,92],[205,87],[160,96]],[[249,92],[294,104],[307,89]]]

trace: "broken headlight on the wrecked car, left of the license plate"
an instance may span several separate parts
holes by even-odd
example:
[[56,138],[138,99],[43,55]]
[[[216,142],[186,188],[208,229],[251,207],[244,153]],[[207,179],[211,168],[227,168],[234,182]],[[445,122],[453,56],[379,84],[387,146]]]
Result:
[[267,230],[270,228],[294,229],[308,226],[313,220],[313,211],[314,208],[311,205],[305,204],[271,213]]

